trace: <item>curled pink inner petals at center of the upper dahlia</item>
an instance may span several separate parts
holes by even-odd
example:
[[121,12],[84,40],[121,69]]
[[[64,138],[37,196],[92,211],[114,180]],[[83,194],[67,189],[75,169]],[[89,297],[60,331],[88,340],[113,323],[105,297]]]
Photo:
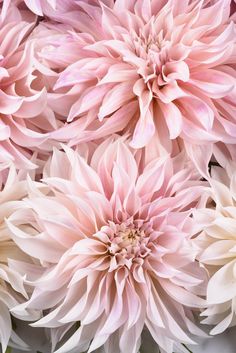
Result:
[[[166,86],[176,87],[177,82],[189,80],[189,67],[185,62],[187,51],[175,44],[168,31],[160,30],[154,19],[139,32],[130,32],[128,43],[134,55],[125,56],[124,60],[137,69],[153,97],[169,102],[166,98]],[[172,92],[172,91],[171,91]],[[164,96],[163,96],[164,94]]]

